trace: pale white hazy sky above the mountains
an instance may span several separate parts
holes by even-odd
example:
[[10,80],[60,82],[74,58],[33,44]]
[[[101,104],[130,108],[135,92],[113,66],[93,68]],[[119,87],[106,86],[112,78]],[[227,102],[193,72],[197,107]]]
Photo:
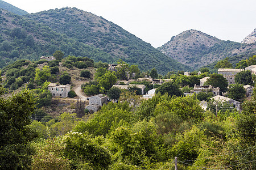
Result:
[[256,28],[255,0],[4,0],[29,13],[76,7],[157,48],[188,29],[241,42]]

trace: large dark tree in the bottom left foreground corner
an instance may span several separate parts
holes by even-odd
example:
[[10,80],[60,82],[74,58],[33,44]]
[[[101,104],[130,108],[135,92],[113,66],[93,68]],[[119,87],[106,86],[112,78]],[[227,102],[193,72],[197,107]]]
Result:
[[36,137],[28,127],[35,109],[34,97],[24,90],[6,99],[0,97],[0,167],[28,169],[34,153],[30,141]]

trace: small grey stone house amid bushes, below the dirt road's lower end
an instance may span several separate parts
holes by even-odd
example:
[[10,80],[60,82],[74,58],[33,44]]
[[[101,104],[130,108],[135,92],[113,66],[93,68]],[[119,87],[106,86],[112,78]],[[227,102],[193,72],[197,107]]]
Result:
[[102,94],[92,96],[89,98],[89,105],[85,108],[89,111],[97,112],[101,109],[104,103],[108,103],[108,96],[104,96]]

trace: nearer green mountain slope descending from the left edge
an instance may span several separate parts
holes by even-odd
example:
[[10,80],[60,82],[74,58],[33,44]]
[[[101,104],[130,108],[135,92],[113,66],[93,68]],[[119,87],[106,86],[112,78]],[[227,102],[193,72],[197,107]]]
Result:
[[84,56],[94,61],[114,62],[118,59],[57,33],[43,23],[2,9],[0,13],[0,68],[17,59],[32,61],[41,56],[51,56],[56,50],[65,50],[65,56]]

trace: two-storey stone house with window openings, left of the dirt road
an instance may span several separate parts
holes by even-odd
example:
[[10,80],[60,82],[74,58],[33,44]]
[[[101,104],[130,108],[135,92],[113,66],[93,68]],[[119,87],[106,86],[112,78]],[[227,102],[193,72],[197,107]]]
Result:
[[69,84],[60,85],[56,83],[49,83],[48,90],[52,93],[52,96],[68,97],[68,92],[71,90]]

